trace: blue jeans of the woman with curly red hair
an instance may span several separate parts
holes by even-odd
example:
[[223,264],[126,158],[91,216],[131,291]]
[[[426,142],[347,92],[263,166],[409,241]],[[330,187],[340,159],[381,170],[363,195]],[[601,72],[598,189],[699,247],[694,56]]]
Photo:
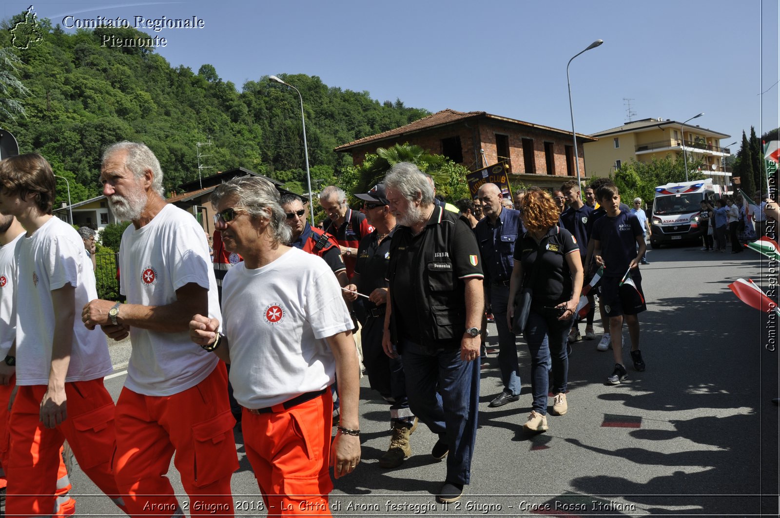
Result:
[[558,320],[555,313],[537,310],[531,306],[528,324],[523,335],[531,354],[531,392],[533,409],[547,414],[549,392],[549,365],[552,362],[552,393],[566,392],[569,379],[569,356],[566,339],[572,328],[572,319]]

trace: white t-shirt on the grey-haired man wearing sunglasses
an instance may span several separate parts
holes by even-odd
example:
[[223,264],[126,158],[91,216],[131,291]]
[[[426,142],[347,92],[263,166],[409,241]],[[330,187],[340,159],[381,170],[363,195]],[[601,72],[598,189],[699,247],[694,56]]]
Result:
[[283,403],[335,381],[328,336],[353,328],[321,258],[293,248],[271,264],[233,266],[222,281],[233,396],[246,408]]

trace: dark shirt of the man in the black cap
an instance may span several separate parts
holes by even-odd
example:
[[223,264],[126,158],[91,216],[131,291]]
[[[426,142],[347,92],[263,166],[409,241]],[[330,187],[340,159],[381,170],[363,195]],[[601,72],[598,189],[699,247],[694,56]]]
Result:
[[[371,295],[374,289],[387,288],[388,263],[390,262],[390,242],[395,229],[392,229],[385,239],[379,243],[379,232],[374,229],[368,236],[360,239],[360,245],[357,247],[357,261],[355,263],[355,279],[357,291],[364,295]],[[377,308],[376,304],[362,296],[357,297],[353,303],[355,310],[358,311],[358,319],[371,314],[371,310]],[[360,309],[359,309],[360,308]],[[360,311],[365,314],[360,315]]]

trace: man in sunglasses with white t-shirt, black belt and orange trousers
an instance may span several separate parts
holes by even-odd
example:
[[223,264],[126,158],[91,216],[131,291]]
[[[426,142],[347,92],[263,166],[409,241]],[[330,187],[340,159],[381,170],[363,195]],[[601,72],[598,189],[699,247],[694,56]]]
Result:
[[[360,462],[353,323],[328,264],[283,244],[291,231],[278,201],[271,183],[251,176],[211,194],[222,241],[244,260],[222,282],[222,327],[197,314],[190,336],[231,364],[246,457],[269,513],[331,516],[328,464],[338,478]],[[331,445],[337,374],[341,418]]]

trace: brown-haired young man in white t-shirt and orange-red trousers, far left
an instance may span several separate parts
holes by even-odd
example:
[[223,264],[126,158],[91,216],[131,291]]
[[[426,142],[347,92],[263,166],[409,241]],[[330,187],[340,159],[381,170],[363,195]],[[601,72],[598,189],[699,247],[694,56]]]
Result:
[[0,279],[5,286],[16,281],[17,393],[5,509],[12,516],[56,511],[65,439],[84,473],[125,509],[111,470],[114,402],[103,385],[112,372],[108,347],[76,318],[76,307],[97,295],[94,271],[78,232],[51,215],[55,189],[40,154],[0,161],[0,211],[27,230],[14,247],[16,279]]

